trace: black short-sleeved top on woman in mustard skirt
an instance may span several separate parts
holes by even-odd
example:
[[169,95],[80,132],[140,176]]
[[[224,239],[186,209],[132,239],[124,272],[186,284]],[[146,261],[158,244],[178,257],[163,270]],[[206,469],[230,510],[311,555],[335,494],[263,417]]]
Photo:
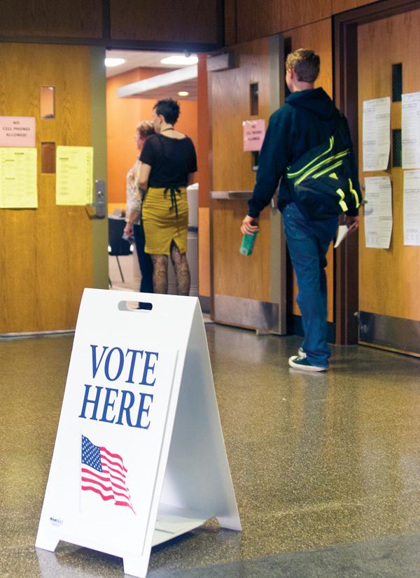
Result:
[[152,134],[144,141],[140,160],[152,167],[149,187],[185,187],[188,174],[197,171],[195,148],[188,136],[171,139],[163,134]]

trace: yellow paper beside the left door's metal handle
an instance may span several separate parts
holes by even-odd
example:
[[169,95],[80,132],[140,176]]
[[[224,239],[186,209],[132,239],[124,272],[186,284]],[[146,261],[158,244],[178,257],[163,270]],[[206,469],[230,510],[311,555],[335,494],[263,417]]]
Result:
[[93,148],[57,146],[57,205],[86,205],[92,202]]

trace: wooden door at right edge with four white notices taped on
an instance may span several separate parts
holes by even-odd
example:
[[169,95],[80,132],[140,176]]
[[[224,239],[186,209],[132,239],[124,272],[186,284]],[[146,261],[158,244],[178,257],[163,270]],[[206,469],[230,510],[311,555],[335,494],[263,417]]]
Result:
[[[401,101],[392,101],[393,64],[402,64],[402,92],[420,91],[420,10],[358,26],[358,132],[360,182],[389,176],[393,230],[389,249],[366,248],[363,218],[359,233],[360,341],[420,354],[420,247],[404,246],[403,170],[391,138],[386,171],[363,172],[363,101],[391,97],[391,137],[401,128]],[[398,136],[398,134],[395,135]],[[396,141],[395,141],[396,142]]]

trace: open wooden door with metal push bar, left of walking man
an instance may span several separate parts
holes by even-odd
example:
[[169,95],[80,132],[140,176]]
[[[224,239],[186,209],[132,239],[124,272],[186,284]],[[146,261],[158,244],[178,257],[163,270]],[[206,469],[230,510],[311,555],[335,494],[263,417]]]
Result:
[[[242,122],[264,119],[267,127],[270,113],[279,107],[283,55],[278,37],[243,43],[233,50],[237,67],[211,73],[209,78],[212,314],[222,323],[283,332],[284,247],[276,209],[261,213],[253,255],[239,255],[239,229],[255,183],[255,162],[252,153],[244,152]],[[251,108],[252,87],[258,90],[258,110]],[[217,197],[221,192],[225,198]],[[234,194],[230,197],[228,192]],[[235,197],[235,192],[242,195]]]

